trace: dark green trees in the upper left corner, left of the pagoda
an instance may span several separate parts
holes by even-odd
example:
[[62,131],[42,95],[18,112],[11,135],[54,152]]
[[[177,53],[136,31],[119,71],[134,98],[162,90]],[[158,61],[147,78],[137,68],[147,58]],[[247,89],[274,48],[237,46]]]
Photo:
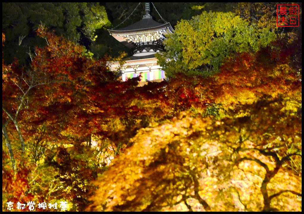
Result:
[[88,47],[96,39],[95,30],[109,24],[109,20],[105,8],[93,2],[3,2],[6,63],[11,63],[15,57],[24,62],[33,54],[35,46],[45,45],[45,40],[35,33],[41,23],[57,35]]

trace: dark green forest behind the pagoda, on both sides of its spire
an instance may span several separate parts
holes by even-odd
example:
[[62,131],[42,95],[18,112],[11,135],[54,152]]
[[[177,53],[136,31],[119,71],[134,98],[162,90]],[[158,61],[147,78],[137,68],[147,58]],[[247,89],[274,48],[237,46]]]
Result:
[[[172,3],[155,2],[151,4],[151,14],[159,23],[170,22],[175,26],[181,19],[191,19],[199,15],[193,10],[195,5],[205,5],[213,11],[233,11],[230,3]],[[133,13],[132,11],[136,9]],[[161,14],[162,17],[160,17]],[[106,28],[125,27],[139,21],[144,14],[144,3],[105,2],[105,3],[2,3],[2,31],[6,35],[3,47],[6,63],[12,63],[16,57],[20,63],[30,60],[29,53],[34,54],[35,46],[43,47],[45,40],[37,37],[36,29],[43,23],[63,35],[68,40],[85,45],[94,53],[95,58],[102,58],[106,53],[118,56],[119,52],[130,52],[117,42]]]

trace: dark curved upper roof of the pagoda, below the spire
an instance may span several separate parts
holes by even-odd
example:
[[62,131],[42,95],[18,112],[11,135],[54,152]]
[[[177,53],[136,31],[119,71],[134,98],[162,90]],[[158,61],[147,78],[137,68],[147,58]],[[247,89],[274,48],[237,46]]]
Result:
[[131,24],[129,26],[119,28],[116,30],[108,30],[109,33],[129,33],[129,32],[138,32],[138,31],[145,31],[145,30],[156,30],[159,28],[168,27],[168,29],[173,32],[173,28],[171,27],[170,23],[161,24],[154,21],[151,18],[141,19],[140,21]]

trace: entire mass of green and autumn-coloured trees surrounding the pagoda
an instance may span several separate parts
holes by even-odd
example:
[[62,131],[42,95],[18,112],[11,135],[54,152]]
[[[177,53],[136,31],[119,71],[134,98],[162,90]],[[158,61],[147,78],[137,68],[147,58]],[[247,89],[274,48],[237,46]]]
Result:
[[302,20],[278,4],[151,3],[170,79],[138,87],[106,28],[143,3],[2,3],[2,210],[302,211]]

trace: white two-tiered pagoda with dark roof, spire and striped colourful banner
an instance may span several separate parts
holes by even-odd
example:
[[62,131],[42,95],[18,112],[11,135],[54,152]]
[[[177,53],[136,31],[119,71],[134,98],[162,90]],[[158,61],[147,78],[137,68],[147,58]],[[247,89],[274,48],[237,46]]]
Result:
[[[145,81],[162,81],[166,79],[165,72],[157,65],[156,53],[164,51],[163,41],[168,33],[174,30],[170,23],[161,24],[150,15],[150,2],[145,3],[143,18],[127,27],[108,30],[116,40],[132,49],[132,56],[125,58],[120,68],[123,81],[137,77],[142,73],[140,85]],[[110,69],[116,70],[118,62],[110,64]]]

